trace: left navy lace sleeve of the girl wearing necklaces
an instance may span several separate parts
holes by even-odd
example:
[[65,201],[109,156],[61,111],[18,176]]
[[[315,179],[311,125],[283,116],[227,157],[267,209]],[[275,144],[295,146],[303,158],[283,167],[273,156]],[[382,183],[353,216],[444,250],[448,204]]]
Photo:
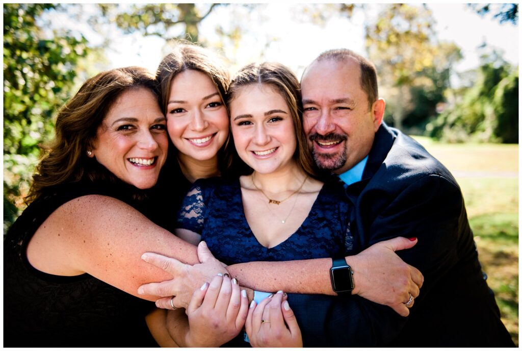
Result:
[[212,191],[211,183],[204,179],[198,179],[183,198],[180,210],[177,214],[177,228],[188,229],[201,235],[205,227],[207,206],[205,204],[206,193]]

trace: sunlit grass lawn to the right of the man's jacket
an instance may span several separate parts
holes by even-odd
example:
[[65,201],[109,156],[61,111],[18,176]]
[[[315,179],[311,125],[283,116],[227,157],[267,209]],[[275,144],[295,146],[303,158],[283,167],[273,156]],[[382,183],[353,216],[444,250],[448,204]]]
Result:
[[457,179],[488,285],[518,346],[518,145],[414,138]]

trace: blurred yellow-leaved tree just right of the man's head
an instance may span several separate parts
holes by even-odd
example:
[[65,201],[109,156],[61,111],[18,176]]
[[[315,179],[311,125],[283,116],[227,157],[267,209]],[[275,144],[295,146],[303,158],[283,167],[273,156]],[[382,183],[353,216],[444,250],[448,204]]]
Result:
[[[397,128],[422,126],[449,86],[460,49],[439,43],[426,6],[389,4],[366,26],[366,50],[387,101],[386,121]],[[386,89],[387,88],[387,89]]]

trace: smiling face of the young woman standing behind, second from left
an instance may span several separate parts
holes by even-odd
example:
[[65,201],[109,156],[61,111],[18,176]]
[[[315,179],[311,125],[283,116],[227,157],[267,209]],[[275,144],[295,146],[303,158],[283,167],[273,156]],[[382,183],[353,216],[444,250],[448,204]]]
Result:
[[217,157],[227,140],[229,121],[218,89],[206,74],[187,69],[172,79],[167,127],[180,158]]

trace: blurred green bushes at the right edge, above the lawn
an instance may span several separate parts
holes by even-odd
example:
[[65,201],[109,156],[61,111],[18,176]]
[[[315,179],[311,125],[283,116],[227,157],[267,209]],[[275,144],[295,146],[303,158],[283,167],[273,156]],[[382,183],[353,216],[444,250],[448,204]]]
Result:
[[428,135],[452,142],[518,143],[518,67],[485,61],[455,106],[426,126]]

